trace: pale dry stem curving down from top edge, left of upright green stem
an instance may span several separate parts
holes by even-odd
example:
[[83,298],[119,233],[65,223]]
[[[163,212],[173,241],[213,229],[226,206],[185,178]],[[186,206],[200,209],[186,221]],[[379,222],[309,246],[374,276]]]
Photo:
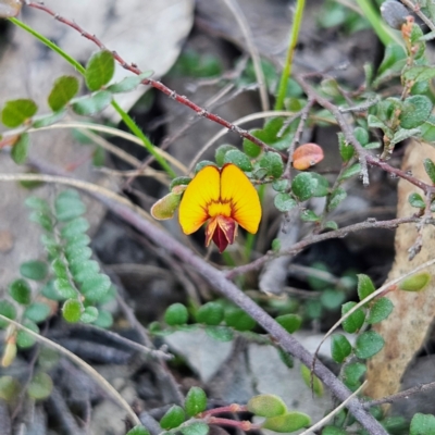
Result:
[[266,83],[263,69],[261,67],[260,53],[257,46],[253,44],[253,36],[251,29],[249,28],[248,21],[246,20],[244,11],[240,9],[237,0],[223,0],[223,1],[227,5],[227,8],[232,11],[246,39],[246,46],[252,59],[253,71],[256,73],[257,83],[259,84],[260,87],[261,109],[263,110],[263,112],[265,112],[269,110],[269,96],[268,96]]

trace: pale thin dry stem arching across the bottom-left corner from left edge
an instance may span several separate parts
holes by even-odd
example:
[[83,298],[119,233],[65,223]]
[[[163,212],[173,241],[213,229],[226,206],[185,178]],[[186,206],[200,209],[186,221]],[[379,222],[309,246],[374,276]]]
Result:
[[120,395],[120,393],[116,391],[116,389],[102,377],[92,366],[87,364],[84,360],[78,358],[76,355],[71,352],[70,350],[65,349],[64,347],[58,345],[54,341],[49,340],[48,338],[44,337],[42,335],[39,335],[38,333],[35,333],[34,331],[23,326],[21,323],[15,322],[11,319],[8,319],[5,315],[0,314],[0,319],[4,322],[8,322],[9,324],[17,327],[18,330],[25,331],[27,334],[32,335],[38,343],[42,343],[44,345],[57,350],[58,352],[64,355],[65,357],[70,358],[72,361],[74,361],[84,372],[86,372],[88,375],[95,380],[101,388],[103,388],[127,413],[129,419],[134,424],[140,424],[140,420],[138,417],[135,414],[133,409],[129,407],[129,405],[126,402],[126,400]]

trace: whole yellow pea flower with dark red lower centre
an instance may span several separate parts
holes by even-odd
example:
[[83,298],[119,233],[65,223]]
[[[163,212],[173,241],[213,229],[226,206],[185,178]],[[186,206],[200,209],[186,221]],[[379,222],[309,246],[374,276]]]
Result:
[[222,169],[206,166],[188,184],[179,204],[179,224],[185,234],[206,222],[206,246],[213,240],[222,252],[233,244],[237,225],[256,234],[261,204],[249,178],[232,163]]

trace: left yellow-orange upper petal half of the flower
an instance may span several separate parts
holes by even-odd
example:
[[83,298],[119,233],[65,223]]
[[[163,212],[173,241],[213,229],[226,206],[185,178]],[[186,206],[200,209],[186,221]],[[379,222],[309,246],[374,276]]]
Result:
[[207,207],[220,196],[220,171],[206,166],[187,185],[179,204],[178,220],[184,234],[195,233],[209,219]]

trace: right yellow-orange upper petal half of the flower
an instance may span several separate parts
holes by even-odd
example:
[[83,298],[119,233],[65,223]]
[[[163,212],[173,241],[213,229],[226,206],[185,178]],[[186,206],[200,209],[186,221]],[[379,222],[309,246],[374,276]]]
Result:
[[261,220],[260,198],[245,173],[232,163],[221,170],[221,199],[232,202],[232,217],[241,227],[257,233]]

